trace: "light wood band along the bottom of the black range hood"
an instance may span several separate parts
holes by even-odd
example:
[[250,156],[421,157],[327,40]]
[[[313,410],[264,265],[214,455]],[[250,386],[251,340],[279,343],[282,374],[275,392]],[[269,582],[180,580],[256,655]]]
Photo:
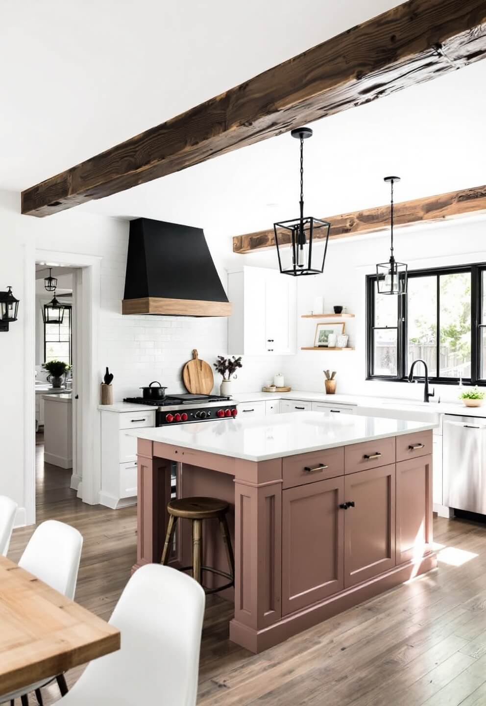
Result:
[[159,316],[231,316],[231,304],[229,301],[142,297],[123,299],[121,311],[124,314],[148,313]]

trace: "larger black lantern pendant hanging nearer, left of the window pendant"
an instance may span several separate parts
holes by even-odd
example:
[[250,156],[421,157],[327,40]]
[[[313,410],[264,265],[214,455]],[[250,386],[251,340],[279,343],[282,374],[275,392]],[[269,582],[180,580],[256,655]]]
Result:
[[[279,268],[283,275],[293,275],[293,277],[320,275],[324,271],[331,224],[319,218],[304,216],[304,140],[312,137],[312,130],[296,128],[291,131],[291,136],[300,140],[300,216],[293,220],[274,223]],[[316,241],[322,243],[322,253],[312,250]],[[290,249],[287,247],[288,244]]]

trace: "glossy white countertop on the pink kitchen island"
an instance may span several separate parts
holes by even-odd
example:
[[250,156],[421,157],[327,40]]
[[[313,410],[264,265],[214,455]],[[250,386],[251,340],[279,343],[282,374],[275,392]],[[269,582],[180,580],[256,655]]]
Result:
[[332,417],[320,412],[291,412],[257,419],[218,419],[127,431],[130,436],[248,461],[293,456],[360,441],[434,429],[434,422]]

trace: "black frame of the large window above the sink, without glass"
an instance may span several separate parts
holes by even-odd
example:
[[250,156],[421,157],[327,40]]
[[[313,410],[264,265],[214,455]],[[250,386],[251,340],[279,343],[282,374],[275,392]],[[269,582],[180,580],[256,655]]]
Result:
[[[483,273],[486,273],[486,263],[473,263],[470,265],[457,265],[451,267],[442,268],[427,268],[421,270],[412,270],[408,272],[408,279],[413,279],[413,277],[427,277],[427,276],[437,276],[437,293],[439,294],[439,275],[449,275],[455,273],[470,273],[470,296],[471,296],[471,306],[470,306],[470,324],[471,324],[471,376],[470,378],[462,378],[463,383],[466,385],[485,385],[486,378],[481,378],[481,335],[480,330],[486,328],[486,306],[485,311],[482,309],[482,280]],[[377,275],[367,275],[366,276],[366,379],[367,380],[378,380],[385,382],[407,382],[408,381],[408,352],[407,352],[407,304],[408,295],[398,294],[398,295],[385,295],[385,294],[375,294],[375,282],[377,281]],[[397,299],[397,317],[396,317],[396,327],[387,326],[379,327],[375,326],[375,296],[393,296]],[[440,298],[437,297],[437,322],[439,324],[437,330],[437,351],[440,347],[440,335],[439,335],[439,306]],[[396,343],[396,376],[391,375],[375,375],[373,374],[373,332],[378,329],[395,329],[397,330],[397,343]],[[486,361],[485,361],[486,363]],[[486,364],[485,364],[486,369]],[[423,380],[424,376],[420,375],[423,371],[423,366],[417,366],[417,375],[415,378],[417,380]],[[439,368],[437,368],[439,370]],[[438,385],[457,385],[459,378],[445,378],[441,376],[430,376],[430,382],[436,383]]]

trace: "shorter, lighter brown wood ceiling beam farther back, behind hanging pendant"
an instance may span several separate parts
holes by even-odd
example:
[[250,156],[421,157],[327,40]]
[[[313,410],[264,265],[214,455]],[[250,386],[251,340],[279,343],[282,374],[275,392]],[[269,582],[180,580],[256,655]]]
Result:
[[[417,222],[434,222],[466,215],[468,213],[486,213],[486,186],[474,186],[440,193],[438,196],[415,198],[394,205],[395,227],[413,225]],[[322,220],[331,223],[329,240],[349,238],[367,233],[379,232],[390,227],[390,205],[367,208],[354,213],[327,216]],[[322,239],[319,231],[315,232],[316,241]],[[288,232],[279,231],[279,245],[290,244]],[[275,245],[274,229],[233,237],[233,252],[253,253],[255,250],[270,248]]]

